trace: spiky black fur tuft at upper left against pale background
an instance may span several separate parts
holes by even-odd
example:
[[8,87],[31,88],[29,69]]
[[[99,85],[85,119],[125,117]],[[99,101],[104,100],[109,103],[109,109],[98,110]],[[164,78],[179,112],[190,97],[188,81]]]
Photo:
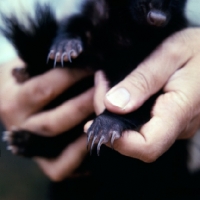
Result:
[[27,16],[31,30],[26,30],[15,18],[4,17],[7,25],[3,33],[18,51],[18,55],[29,65],[31,75],[41,74],[49,69],[46,65],[47,52],[56,36],[58,24],[51,8],[46,5],[35,8],[36,20]]

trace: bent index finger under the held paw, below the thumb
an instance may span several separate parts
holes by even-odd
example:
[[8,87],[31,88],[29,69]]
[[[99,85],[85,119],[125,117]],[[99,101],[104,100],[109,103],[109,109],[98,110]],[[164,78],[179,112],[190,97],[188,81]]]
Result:
[[[175,99],[176,97],[173,98]],[[142,126],[139,133],[125,132],[114,143],[114,149],[123,155],[148,163],[159,158],[172,146],[187,124],[182,109],[173,100],[169,94],[160,97],[153,109],[151,120]]]

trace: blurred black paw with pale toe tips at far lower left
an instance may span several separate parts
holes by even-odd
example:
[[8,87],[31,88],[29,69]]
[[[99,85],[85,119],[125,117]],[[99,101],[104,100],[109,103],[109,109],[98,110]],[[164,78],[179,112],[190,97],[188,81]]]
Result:
[[7,149],[13,154],[26,156],[30,136],[26,131],[4,131],[2,140],[7,142]]

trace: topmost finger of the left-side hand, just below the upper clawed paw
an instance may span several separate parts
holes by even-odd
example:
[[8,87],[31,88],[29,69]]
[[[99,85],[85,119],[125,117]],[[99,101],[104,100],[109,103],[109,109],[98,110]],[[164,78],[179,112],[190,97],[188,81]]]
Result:
[[7,127],[21,124],[28,116],[86,75],[87,72],[75,69],[55,69],[24,84],[16,84],[13,79],[9,79],[0,91],[4,97],[0,105],[4,123]]

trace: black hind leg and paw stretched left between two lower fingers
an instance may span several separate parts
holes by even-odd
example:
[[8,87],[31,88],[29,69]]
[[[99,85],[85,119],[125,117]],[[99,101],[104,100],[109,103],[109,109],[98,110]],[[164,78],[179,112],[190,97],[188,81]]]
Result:
[[82,133],[82,125],[55,137],[41,136],[28,130],[13,128],[3,132],[3,141],[13,154],[24,157],[55,158],[68,144],[71,144]]

